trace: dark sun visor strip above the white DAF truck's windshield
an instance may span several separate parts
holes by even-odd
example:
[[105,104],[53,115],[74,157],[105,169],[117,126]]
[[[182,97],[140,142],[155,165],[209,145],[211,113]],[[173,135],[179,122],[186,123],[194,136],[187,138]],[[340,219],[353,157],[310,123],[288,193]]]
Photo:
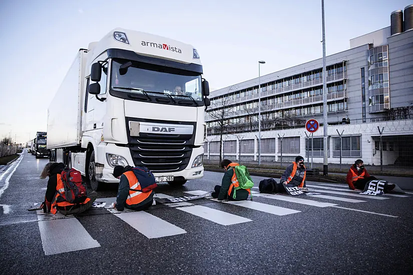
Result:
[[160,66],[173,67],[177,69],[184,69],[184,70],[203,73],[202,65],[199,65],[199,64],[194,64],[194,63],[185,64],[185,63],[175,62],[172,60],[145,56],[145,55],[138,54],[132,50],[110,48],[107,50],[107,53],[108,53],[109,58],[124,58],[128,60],[133,60],[133,61],[139,61],[139,62],[144,62],[144,63],[150,63],[150,64],[155,64],[155,65],[160,65]]

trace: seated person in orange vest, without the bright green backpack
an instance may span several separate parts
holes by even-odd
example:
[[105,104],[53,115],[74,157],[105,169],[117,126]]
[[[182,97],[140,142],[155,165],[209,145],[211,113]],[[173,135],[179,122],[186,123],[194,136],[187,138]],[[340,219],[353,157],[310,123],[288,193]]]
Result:
[[[229,159],[224,159],[220,163],[221,168],[225,170],[225,174],[222,177],[221,185],[215,185],[214,192],[211,196],[218,198],[218,200],[245,200],[250,194],[250,189],[238,189],[235,192],[235,187],[239,185],[237,175],[235,173],[234,166],[239,166],[239,163],[232,162]],[[235,198],[234,196],[235,192]]]

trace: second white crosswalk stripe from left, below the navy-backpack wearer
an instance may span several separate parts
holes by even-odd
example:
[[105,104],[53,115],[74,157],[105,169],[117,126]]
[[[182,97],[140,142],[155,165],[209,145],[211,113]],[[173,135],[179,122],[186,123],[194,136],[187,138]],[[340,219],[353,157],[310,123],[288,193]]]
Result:
[[145,211],[119,213],[116,216],[148,238],[160,238],[186,233],[184,229]]

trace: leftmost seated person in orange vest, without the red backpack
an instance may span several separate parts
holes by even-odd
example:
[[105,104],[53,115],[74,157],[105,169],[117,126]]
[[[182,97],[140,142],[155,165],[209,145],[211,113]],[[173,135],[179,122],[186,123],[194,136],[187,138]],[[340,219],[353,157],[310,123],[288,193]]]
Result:
[[45,201],[41,205],[41,208],[43,208],[43,212],[45,213],[56,213],[56,210],[59,210],[59,212],[64,215],[79,214],[92,207],[93,202],[98,196],[96,191],[89,191],[88,198],[82,203],[74,204],[67,201],[58,202],[58,191],[64,188],[63,181],[61,179],[61,173],[64,168],[65,164],[62,162],[49,162],[45,165],[45,168],[43,168],[42,174],[40,175],[40,178],[46,178],[49,176]]

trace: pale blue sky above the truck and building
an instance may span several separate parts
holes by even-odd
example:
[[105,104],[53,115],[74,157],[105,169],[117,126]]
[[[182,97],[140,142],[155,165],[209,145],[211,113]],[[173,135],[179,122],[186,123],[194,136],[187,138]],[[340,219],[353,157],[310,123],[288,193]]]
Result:
[[[325,0],[326,54],[390,25],[413,0]],[[0,0],[0,138],[47,130],[47,109],[79,48],[115,27],[194,45],[219,89],[322,57],[321,0]],[[64,102],[62,102],[63,104]]]

